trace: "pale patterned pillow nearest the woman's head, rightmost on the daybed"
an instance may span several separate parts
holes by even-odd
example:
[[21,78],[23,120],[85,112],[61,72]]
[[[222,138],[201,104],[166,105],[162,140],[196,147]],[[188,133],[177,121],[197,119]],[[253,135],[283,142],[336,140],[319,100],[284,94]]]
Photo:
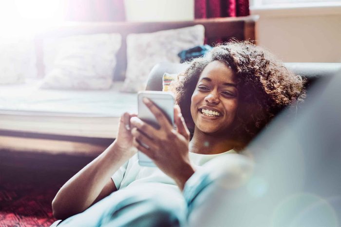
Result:
[[159,62],[180,62],[178,53],[203,45],[205,27],[186,28],[127,36],[127,72],[122,91],[138,92],[146,88],[152,67]]

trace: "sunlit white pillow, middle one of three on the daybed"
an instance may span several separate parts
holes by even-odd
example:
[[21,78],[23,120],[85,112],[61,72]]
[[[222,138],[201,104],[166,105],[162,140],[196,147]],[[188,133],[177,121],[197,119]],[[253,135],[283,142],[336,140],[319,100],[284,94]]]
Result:
[[80,35],[44,41],[41,88],[109,89],[121,35]]

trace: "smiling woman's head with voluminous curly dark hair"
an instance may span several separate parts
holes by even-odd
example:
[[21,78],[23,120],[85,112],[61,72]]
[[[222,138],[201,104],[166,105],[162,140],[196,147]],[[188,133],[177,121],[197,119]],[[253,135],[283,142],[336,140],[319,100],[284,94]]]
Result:
[[[191,135],[198,128],[215,138],[224,136],[236,150],[242,150],[281,110],[305,96],[301,76],[247,41],[213,48],[206,57],[193,60],[181,78],[173,90]],[[212,116],[213,111],[219,116]],[[218,126],[212,124],[203,130],[209,120],[224,127],[215,131],[210,128]]]

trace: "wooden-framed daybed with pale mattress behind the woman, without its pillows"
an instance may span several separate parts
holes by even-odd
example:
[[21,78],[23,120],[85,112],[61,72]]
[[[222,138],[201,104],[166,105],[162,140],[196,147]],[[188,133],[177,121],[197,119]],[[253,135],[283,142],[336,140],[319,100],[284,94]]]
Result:
[[119,92],[127,68],[128,34],[202,24],[208,44],[229,38],[254,40],[257,19],[257,16],[249,16],[174,22],[73,23],[51,27],[39,33],[35,38],[35,50],[40,79],[46,73],[43,52],[45,39],[119,33],[122,45],[116,57],[114,87],[108,91],[78,92],[40,90],[36,84],[1,86],[0,150],[98,155],[114,140],[119,116],[125,111],[136,111],[136,95]]

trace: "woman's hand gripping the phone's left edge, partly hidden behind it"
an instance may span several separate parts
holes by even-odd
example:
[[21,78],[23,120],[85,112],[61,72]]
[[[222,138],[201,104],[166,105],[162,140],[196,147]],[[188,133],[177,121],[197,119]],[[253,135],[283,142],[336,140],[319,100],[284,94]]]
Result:
[[132,157],[137,152],[137,149],[133,146],[132,129],[130,126],[130,118],[133,116],[137,116],[137,114],[129,114],[126,112],[121,115],[116,140],[114,141],[118,151],[123,156],[127,155],[127,158]]

